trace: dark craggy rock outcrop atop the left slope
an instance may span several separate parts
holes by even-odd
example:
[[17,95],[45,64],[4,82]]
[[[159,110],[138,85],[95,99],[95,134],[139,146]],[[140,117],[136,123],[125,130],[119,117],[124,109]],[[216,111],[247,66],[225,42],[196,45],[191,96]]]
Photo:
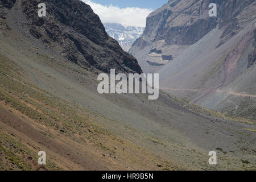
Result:
[[107,73],[110,68],[118,72],[142,72],[137,60],[106,34],[100,18],[89,5],[74,0],[45,3],[47,16],[39,18],[38,1],[22,1],[30,32],[36,38],[49,46],[56,43],[61,55],[81,67],[93,67]]

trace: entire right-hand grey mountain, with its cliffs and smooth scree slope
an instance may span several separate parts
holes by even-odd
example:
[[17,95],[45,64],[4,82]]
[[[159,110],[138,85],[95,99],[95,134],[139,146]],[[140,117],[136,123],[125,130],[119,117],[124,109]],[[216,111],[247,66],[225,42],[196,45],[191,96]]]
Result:
[[[217,5],[216,17],[209,16],[210,3]],[[160,73],[166,91],[209,109],[255,118],[255,97],[247,103],[241,94],[256,94],[255,8],[254,0],[168,1],[147,17],[130,53],[144,72]]]

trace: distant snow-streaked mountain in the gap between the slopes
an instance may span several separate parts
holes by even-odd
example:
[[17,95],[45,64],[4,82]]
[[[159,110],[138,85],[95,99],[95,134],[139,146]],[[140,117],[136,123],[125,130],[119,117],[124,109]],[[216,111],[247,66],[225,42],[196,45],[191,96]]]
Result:
[[143,27],[122,26],[119,23],[104,23],[109,36],[118,41],[125,51],[129,51],[131,45],[143,34]]

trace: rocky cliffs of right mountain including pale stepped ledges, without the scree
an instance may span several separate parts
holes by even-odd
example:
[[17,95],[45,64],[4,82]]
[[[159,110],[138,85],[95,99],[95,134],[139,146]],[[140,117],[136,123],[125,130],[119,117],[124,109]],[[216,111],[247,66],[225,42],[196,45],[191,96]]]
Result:
[[[209,4],[217,4],[217,17],[209,17]],[[187,46],[191,46],[214,28],[223,30],[220,35],[221,46],[236,35],[246,23],[254,20],[253,0],[209,1],[209,0],[171,0],[147,17],[146,28],[137,39],[130,53],[139,60],[145,72],[152,67],[146,61],[167,64],[164,56],[177,57]],[[162,55],[152,55],[152,49],[161,49]],[[157,57],[157,59],[155,59]],[[152,69],[158,70],[159,68]]]

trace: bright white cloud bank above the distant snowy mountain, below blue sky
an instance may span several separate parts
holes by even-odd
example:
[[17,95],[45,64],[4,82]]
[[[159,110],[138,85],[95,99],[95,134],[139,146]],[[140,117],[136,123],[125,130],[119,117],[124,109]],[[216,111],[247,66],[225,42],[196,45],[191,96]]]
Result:
[[103,6],[90,0],[82,1],[92,7],[94,13],[100,16],[103,23],[120,23],[123,26],[145,27],[148,14],[153,11],[139,7]]

